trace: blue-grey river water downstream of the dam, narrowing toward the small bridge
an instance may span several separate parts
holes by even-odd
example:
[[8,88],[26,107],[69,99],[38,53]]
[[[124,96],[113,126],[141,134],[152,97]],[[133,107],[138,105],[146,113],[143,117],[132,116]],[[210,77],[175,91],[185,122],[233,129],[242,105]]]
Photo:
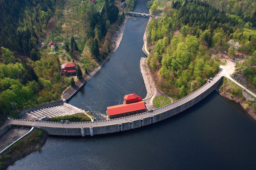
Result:
[[[149,13],[147,1],[138,1],[133,11]],[[106,119],[108,106],[123,104],[124,95],[136,93],[142,99],[147,90],[140,72],[141,48],[149,18],[128,18],[122,41],[109,61],[68,103],[86,111],[93,111],[97,120]]]

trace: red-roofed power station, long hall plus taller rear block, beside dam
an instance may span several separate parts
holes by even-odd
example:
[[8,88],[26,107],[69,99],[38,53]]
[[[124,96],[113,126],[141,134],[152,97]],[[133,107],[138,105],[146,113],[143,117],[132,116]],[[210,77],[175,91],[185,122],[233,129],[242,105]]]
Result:
[[107,107],[109,119],[115,119],[124,116],[130,116],[145,112],[144,101],[136,94],[124,95],[124,104]]

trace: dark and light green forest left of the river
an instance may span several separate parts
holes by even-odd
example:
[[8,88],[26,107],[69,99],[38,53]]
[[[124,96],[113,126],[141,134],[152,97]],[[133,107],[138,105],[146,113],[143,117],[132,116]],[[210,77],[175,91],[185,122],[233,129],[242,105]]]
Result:
[[[58,49],[39,48],[47,35],[61,32],[61,25],[67,24],[61,19],[67,2],[73,1],[0,1],[0,123],[6,115],[16,117],[23,109],[60,100],[62,92],[75,83],[74,78],[60,76]],[[100,62],[108,54],[112,34],[124,14],[119,16],[113,0],[106,0],[101,12],[91,2],[81,3],[77,12],[90,53]],[[74,61],[80,54],[73,35],[60,49]],[[81,58],[86,71],[88,61]],[[78,78],[82,78],[81,71]]]

